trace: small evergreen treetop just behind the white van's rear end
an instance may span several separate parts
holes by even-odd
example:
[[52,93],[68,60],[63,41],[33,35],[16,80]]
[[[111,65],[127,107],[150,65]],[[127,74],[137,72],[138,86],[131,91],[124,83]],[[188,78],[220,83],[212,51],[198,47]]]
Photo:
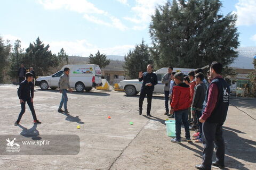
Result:
[[95,54],[95,56],[90,54],[89,59],[90,59],[90,64],[97,64],[101,69],[105,68],[110,63],[110,60],[107,60],[107,56],[105,54],[100,54],[99,50]]

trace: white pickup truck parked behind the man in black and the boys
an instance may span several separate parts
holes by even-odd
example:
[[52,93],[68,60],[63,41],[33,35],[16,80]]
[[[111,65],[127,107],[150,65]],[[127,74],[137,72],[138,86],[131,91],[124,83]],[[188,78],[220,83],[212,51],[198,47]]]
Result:
[[[162,78],[165,73],[167,73],[168,68],[163,67],[162,69],[157,70],[155,73],[157,75],[157,81],[154,88],[154,92],[156,93],[164,93],[164,84],[162,83]],[[173,68],[173,72],[182,72],[185,75],[188,75],[188,73],[195,69],[185,69],[185,68]],[[139,74],[139,73],[138,73]],[[143,81],[139,81],[138,79],[134,80],[123,80],[121,81],[120,88],[125,90],[125,94],[127,96],[134,96],[137,95],[140,92],[141,86]]]

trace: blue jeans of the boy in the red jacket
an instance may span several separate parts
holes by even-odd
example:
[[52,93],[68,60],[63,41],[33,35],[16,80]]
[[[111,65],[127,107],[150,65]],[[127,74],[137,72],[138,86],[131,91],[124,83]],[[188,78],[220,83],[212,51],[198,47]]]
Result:
[[176,139],[180,140],[181,123],[183,122],[186,139],[190,139],[189,124],[188,124],[188,109],[183,111],[174,111]]

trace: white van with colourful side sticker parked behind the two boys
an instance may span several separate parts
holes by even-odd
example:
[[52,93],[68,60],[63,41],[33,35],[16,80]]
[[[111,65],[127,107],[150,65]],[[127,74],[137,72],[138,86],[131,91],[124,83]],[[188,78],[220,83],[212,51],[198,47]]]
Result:
[[90,91],[92,87],[102,86],[101,82],[101,70],[98,65],[95,64],[81,64],[81,65],[65,65],[57,73],[36,79],[36,86],[46,90],[49,87],[51,89],[57,89],[60,76],[64,73],[64,68],[68,67],[69,72],[69,84],[71,88],[75,88],[76,91]]

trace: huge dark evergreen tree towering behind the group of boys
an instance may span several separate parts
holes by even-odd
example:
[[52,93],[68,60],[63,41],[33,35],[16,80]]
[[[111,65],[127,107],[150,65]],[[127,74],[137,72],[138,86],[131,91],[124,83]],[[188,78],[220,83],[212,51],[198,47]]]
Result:
[[151,53],[157,67],[197,68],[237,57],[236,15],[219,14],[219,0],[173,0],[156,8],[150,23]]

